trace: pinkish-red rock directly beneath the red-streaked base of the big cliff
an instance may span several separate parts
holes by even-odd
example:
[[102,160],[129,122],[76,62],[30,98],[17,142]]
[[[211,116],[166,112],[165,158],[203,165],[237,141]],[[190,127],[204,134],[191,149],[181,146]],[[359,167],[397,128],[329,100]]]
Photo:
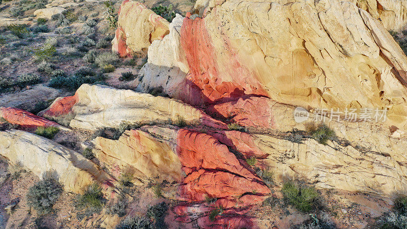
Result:
[[274,129],[275,120],[270,101],[266,97],[244,96],[235,101],[211,104],[206,112],[221,118],[231,118],[232,122],[241,126]]

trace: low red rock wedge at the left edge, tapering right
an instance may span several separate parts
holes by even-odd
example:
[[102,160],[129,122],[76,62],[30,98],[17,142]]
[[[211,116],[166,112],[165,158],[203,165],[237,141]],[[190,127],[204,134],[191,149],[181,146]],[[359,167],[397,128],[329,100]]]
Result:
[[0,107],[0,117],[11,124],[17,124],[23,127],[54,126],[61,129],[67,129],[60,124],[36,116],[28,111],[13,107]]

